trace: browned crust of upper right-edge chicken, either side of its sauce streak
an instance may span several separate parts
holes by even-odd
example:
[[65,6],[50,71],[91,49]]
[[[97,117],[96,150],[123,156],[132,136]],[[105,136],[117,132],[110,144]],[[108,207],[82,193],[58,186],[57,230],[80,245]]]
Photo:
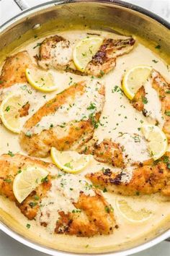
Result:
[[[170,84],[166,82],[164,77],[162,77],[161,74],[154,69],[151,72],[149,79],[151,81],[152,88],[158,93],[158,98],[161,102],[161,116],[164,118],[163,131],[170,142]],[[147,100],[147,96],[145,85],[142,85],[135,94],[132,102],[133,106],[138,111],[142,111],[144,116],[151,117],[151,113],[146,111],[148,103],[147,101],[145,102],[145,99]],[[155,102],[155,104],[157,104],[157,102]],[[157,123],[158,120],[156,120],[156,124]]]

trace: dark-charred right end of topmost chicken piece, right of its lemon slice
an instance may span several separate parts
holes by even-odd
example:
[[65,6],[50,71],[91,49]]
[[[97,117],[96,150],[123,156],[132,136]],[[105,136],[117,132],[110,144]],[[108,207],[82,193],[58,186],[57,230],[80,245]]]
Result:
[[93,56],[93,59],[87,65],[85,72],[95,77],[102,77],[115,68],[117,57],[132,51],[134,44],[135,39],[132,37],[126,39],[104,39],[102,46],[100,46],[97,54]]

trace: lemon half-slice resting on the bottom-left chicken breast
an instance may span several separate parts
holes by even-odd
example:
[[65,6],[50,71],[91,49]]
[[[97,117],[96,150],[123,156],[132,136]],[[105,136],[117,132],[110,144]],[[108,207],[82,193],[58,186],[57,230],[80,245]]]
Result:
[[22,170],[14,178],[13,192],[18,202],[21,203],[30,193],[48,176],[44,168],[31,166]]

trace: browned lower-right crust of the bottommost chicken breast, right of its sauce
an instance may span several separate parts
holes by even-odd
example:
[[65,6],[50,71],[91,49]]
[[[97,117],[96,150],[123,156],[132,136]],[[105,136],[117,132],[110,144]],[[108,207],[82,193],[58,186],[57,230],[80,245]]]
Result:
[[[111,205],[108,205],[100,193],[88,197],[81,193],[79,201],[74,204],[81,213],[60,213],[55,232],[78,236],[95,234],[112,234],[115,219]],[[86,216],[84,216],[84,212]]]

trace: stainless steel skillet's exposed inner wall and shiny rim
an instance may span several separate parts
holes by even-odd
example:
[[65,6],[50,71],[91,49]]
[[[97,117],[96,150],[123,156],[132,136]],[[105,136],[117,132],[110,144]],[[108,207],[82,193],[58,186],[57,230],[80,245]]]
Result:
[[[43,23],[55,19],[56,24],[62,20],[72,25],[77,22],[83,25],[90,24],[94,29],[115,31],[120,28],[121,31],[129,31],[140,35],[142,38],[155,41],[161,45],[161,48],[167,52],[168,56],[170,55],[169,22],[133,4],[118,0],[50,1],[27,9],[26,1],[16,0],[16,2],[23,11],[0,27],[0,51],[4,46],[8,46],[9,43],[20,38],[27,30],[36,30]],[[4,223],[0,223],[0,229],[28,247],[45,252],[48,255],[67,254],[66,252],[59,252],[31,242],[29,239],[9,229]],[[131,255],[152,247],[154,244],[158,244],[169,237],[170,230],[162,231],[145,244],[140,244],[137,247],[121,252],[111,252],[111,254]]]

